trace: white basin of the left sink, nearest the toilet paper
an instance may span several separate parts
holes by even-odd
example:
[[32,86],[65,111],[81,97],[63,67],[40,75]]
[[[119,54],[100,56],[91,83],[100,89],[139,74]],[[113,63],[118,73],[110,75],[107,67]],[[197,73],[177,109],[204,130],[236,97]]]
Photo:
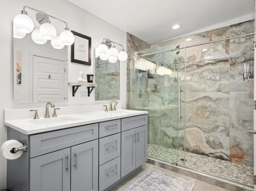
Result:
[[52,117],[52,118],[36,119],[36,120],[31,120],[29,122],[37,124],[37,125],[52,125],[52,124],[73,122],[76,120],[81,120],[81,119],[65,116],[65,117],[54,117],[54,118]]

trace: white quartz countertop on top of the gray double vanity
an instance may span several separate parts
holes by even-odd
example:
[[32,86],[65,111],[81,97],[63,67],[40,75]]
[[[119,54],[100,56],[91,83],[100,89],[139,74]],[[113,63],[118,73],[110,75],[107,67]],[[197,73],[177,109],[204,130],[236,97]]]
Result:
[[132,117],[136,115],[148,114],[148,111],[125,110],[116,111],[95,111],[76,114],[60,115],[58,117],[40,119],[20,119],[4,121],[4,124],[23,134],[36,134],[52,130],[60,130],[73,126],[81,126],[108,120]]

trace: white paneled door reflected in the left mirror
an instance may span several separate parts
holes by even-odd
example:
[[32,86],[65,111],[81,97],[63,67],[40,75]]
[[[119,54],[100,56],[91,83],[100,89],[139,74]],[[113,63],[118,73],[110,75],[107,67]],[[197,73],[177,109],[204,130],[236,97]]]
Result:
[[65,62],[33,56],[33,102],[65,100]]

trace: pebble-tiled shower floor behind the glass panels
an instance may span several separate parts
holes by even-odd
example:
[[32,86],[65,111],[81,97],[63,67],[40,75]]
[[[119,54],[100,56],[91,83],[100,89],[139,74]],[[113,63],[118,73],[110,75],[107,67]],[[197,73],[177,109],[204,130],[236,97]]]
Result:
[[[191,169],[206,175],[229,180],[231,183],[238,183],[247,188],[253,185],[253,167],[246,166],[222,159],[211,158],[191,152],[186,152],[186,161],[184,151],[178,151],[164,146],[148,144],[148,158],[163,161],[164,163],[176,163],[184,169]],[[253,190],[253,189],[250,189]]]

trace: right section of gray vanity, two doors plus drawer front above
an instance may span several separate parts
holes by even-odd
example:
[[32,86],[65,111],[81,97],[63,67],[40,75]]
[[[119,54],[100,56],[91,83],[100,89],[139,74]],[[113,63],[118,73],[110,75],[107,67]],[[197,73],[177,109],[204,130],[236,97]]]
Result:
[[122,119],[121,178],[147,161],[147,120],[147,115]]

